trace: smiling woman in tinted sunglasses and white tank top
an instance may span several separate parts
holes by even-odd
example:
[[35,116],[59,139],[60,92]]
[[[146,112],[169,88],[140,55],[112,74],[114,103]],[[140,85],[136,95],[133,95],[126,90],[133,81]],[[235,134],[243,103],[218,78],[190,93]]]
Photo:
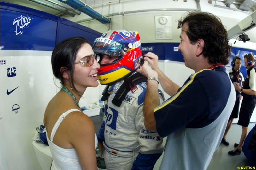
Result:
[[78,102],[87,87],[98,86],[99,68],[97,56],[84,37],[63,40],[52,52],[53,74],[62,88],[44,113],[53,158],[51,170],[97,170],[94,125]]

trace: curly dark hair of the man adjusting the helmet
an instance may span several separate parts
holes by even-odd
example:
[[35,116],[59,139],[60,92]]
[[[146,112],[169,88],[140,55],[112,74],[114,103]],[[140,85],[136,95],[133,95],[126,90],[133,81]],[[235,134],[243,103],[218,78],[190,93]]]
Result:
[[186,34],[191,44],[195,44],[198,39],[204,40],[203,55],[208,57],[210,63],[229,63],[232,46],[220,18],[207,12],[191,11],[181,22],[182,25],[184,23],[188,24]]

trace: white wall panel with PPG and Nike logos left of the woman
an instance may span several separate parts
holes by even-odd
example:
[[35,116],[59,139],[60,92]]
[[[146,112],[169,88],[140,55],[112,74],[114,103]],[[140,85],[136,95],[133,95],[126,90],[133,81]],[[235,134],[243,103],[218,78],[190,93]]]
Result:
[[[56,94],[51,53],[1,50],[1,60],[7,61],[1,64],[1,168],[5,170],[40,169],[32,138],[43,123],[47,103]],[[16,76],[8,77],[7,69],[14,67]],[[7,90],[16,87],[7,95]],[[19,109],[12,111],[14,105]]]

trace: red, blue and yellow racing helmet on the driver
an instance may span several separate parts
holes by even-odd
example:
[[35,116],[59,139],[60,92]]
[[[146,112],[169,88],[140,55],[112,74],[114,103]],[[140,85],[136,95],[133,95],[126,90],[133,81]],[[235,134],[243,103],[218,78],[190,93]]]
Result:
[[[108,85],[124,79],[139,68],[142,62],[142,51],[139,33],[136,31],[108,31],[93,42],[92,49],[100,56],[98,80]],[[117,57],[111,63],[101,64],[103,55]]]

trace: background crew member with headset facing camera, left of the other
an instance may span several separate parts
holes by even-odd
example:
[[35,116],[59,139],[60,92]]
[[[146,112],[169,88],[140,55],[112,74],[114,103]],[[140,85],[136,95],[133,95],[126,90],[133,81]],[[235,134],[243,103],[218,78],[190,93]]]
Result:
[[[242,64],[241,58],[240,57],[234,57],[232,62],[231,62],[232,69],[228,70],[229,71],[229,77],[230,77],[230,79],[231,79],[231,81],[234,85],[236,83],[238,83],[240,86],[242,86],[242,82],[244,82],[244,77],[243,77],[242,73],[239,71],[240,68],[241,68],[241,64]],[[221,142],[223,144],[225,144],[226,146],[229,145],[229,142],[226,139],[228,131],[231,128],[231,125],[232,125],[232,122],[233,122],[234,118],[238,118],[239,105],[240,105],[241,98],[242,98],[242,96],[240,95],[240,91],[236,90],[235,106],[234,106],[234,108],[232,110],[232,113],[229,117],[226,130],[225,130],[224,135],[223,135],[222,140],[221,140]]]

